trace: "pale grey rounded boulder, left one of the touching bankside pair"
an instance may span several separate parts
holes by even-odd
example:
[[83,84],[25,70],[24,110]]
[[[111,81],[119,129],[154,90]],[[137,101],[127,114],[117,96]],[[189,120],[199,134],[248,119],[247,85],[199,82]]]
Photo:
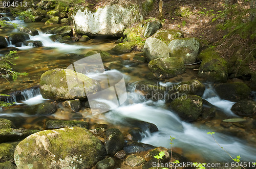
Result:
[[147,38],[144,45],[144,56],[147,62],[157,58],[169,57],[168,46],[156,38]]

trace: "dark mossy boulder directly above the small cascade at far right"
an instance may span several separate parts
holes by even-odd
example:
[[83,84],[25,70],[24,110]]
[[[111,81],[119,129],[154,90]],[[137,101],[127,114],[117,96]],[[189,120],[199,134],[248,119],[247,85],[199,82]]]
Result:
[[249,99],[251,89],[243,82],[222,83],[215,86],[218,95],[225,100],[240,101]]

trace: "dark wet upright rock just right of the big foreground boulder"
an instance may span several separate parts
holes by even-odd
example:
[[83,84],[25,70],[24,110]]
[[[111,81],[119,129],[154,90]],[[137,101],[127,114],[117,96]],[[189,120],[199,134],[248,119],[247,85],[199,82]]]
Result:
[[105,131],[106,136],[106,153],[109,155],[115,155],[124,147],[123,134],[116,128],[111,128]]

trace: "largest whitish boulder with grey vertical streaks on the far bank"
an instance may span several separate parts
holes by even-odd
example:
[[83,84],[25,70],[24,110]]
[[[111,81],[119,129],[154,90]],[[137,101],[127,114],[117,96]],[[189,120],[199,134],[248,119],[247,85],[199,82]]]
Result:
[[76,32],[88,36],[122,36],[126,27],[137,20],[137,6],[106,5],[96,12],[85,6],[74,8],[73,21]]

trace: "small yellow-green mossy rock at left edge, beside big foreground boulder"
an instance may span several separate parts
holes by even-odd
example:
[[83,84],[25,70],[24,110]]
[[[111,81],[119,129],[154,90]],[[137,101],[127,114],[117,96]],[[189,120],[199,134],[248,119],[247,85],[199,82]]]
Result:
[[14,150],[19,142],[1,143],[0,144],[0,162],[14,162]]

